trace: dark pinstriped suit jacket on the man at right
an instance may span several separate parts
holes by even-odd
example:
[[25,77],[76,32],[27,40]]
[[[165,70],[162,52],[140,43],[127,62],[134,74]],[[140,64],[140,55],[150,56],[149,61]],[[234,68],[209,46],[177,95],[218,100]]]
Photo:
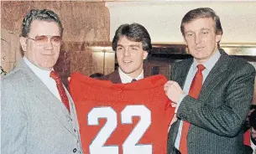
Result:
[[[186,95],[177,117],[189,121],[189,154],[243,154],[243,122],[253,99],[255,69],[224,52],[208,74],[198,99]],[[171,80],[183,87],[193,59],[174,64]],[[168,154],[174,153],[180,120],[170,129]]]

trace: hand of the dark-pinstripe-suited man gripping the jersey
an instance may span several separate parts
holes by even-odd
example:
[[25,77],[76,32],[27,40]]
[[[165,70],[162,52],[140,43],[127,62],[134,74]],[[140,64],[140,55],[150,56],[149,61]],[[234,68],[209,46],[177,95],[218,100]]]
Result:
[[[169,80],[164,85],[165,95],[172,101],[172,106],[177,103],[182,94],[185,94],[183,90],[181,90],[180,85],[172,80]],[[173,106],[174,107],[174,106]]]

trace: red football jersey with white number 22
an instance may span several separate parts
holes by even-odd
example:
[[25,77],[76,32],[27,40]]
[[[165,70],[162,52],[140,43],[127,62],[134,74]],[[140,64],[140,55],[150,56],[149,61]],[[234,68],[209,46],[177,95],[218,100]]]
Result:
[[165,154],[174,109],[163,75],[112,84],[72,74],[81,144],[86,154]]

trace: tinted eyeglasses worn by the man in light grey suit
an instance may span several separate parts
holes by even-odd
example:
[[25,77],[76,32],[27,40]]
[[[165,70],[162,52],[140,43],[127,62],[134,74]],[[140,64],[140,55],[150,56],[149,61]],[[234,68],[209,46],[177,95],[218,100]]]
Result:
[[49,39],[50,39],[50,43],[54,46],[60,46],[60,44],[62,44],[62,40],[60,36],[39,35],[39,36],[35,36],[35,38],[29,38],[29,39],[34,40],[34,44],[38,46],[44,46],[45,44],[48,43]]

